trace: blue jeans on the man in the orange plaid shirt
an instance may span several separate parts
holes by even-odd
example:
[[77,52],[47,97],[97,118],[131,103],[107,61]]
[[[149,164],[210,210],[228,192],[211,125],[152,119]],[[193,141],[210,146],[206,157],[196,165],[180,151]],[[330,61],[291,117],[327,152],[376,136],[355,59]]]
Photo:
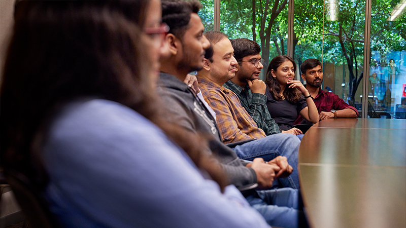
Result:
[[299,188],[299,175],[297,173],[297,154],[300,140],[293,134],[268,135],[251,142],[234,147],[237,156],[244,160],[252,161],[255,158],[263,158],[270,161],[278,156],[285,156],[293,172],[286,178],[278,178],[273,187]]

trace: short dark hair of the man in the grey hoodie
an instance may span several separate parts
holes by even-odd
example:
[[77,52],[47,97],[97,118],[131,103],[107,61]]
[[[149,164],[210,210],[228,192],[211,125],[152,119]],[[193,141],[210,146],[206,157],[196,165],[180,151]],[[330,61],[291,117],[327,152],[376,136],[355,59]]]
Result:
[[189,29],[190,15],[198,13],[202,5],[197,0],[162,0],[162,22],[170,29],[169,33],[174,34],[182,40],[186,30]]

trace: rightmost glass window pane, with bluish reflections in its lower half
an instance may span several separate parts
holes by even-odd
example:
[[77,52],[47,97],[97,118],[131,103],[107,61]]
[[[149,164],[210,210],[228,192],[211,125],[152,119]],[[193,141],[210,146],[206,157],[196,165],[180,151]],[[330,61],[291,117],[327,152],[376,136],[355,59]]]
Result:
[[[405,119],[406,1],[373,1],[368,82],[369,117]],[[403,10],[401,10],[403,9]],[[376,113],[374,113],[376,112]]]

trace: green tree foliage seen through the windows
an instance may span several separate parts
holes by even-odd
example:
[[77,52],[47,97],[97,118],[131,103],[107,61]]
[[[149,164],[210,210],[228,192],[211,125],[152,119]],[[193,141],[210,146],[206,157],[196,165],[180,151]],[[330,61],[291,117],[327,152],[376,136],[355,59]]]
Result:
[[[336,3],[335,21],[329,20],[332,18],[329,15],[330,1]],[[214,3],[208,0],[201,2],[205,10],[200,16],[207,30],[211,30]],[[406,13],[395,21],[388,20],[392,9],[399,2],[372,1],[371,51],[386,55],[390,51],[406,50]],[[230,39],[255,39],[262,48],[264,59],[270,60],[278,54],[286,54],[288,5],[284,4],[283,0],[222,0],[220,30]],[[274,5],[278,6],[279,11],[272,14]],[[354,99],[362,78],[358,69],[362,69],[363,65],[365,0],[296,0],[294,6],[294,59],[301,63],[308,58],[321,59],[323,54],[323,62],[345,64],[350,74],[349,96]],[[266,17],[263,17],[265,14]],[[253,26],[255,32],[252,31]]]

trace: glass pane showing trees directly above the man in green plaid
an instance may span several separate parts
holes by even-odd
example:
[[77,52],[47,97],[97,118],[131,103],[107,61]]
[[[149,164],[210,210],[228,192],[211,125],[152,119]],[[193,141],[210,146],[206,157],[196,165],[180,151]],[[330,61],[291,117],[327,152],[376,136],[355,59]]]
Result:
[[220,31],[230,39],[256,41],[261,46],[264,59],[262,73],[266,72],[272,58],[286,55],[287,18],[288,1],[226,0],[220,5]]

